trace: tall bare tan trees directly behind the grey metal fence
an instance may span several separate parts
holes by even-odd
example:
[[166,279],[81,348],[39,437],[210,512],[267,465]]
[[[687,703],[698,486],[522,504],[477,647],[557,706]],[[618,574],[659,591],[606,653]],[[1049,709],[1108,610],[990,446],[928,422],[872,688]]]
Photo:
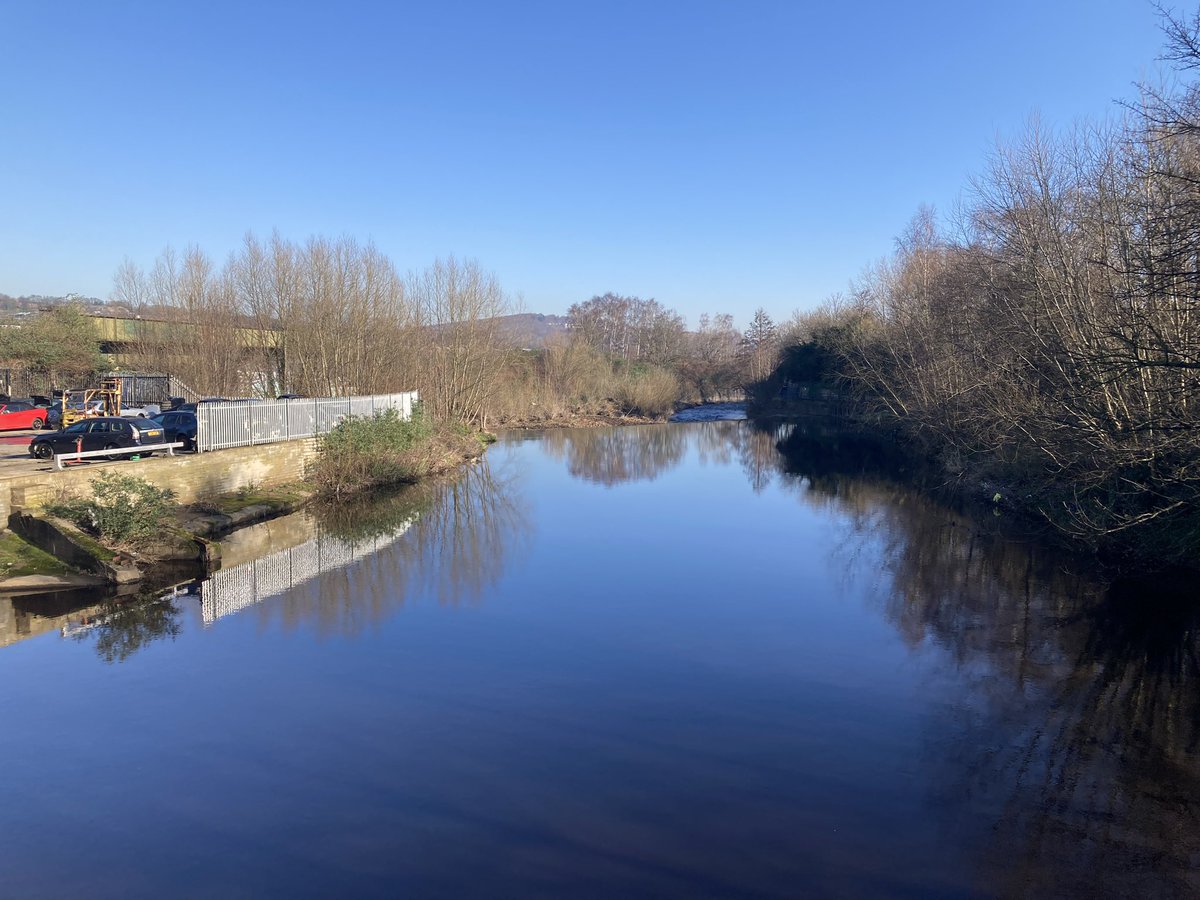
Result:
[[[143,317],[133,367],[167,371],[204,395],[382,394],[418,386],[445,420],[482,421],[504,348],[509,299],[473,260],[401,275],[371,244],[247,235],[217,266],[198,247],[132,262],[114,300]],[[176,323],[178,328],[172,328]]]

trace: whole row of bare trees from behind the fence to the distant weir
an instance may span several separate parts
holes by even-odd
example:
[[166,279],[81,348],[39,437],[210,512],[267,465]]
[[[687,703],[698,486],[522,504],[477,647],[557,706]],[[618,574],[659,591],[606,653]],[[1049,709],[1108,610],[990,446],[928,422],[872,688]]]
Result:
[[210,396],[418,389],[442,420],[478,425],[580,414],[660,416],[689,400],[740,396],[769,370],[770,317],[739,332],[727,314],[684,319],[613,293],[577,302],[570,329],[521,352],[499,317],[514,304],[475,262],[401,275],[373,245],[247,235],[223,265],[198,247],[126,260],[113,301],[138,317],[124,362]]

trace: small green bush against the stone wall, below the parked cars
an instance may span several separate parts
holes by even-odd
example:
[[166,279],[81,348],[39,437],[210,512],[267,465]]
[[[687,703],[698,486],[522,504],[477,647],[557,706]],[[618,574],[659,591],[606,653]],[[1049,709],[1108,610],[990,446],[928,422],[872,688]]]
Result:
[[104,472],[92,479],[90,498],[73,497],[46,511],[108,544],[136,545],[157,534],[175,505],[174,491],[136,475]]

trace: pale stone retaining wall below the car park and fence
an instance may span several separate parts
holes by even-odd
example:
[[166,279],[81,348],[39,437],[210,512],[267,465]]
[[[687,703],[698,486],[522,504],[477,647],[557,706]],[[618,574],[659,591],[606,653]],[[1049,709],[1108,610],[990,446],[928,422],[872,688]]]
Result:
[[192,503],[252,485],[275,487],[300,481],[316,455],[316,439],[305,438],[209,454],[80,463],[62,472],[52,463],[48,472],[0,481],[0,524],[7,523],[16,510],[40,509],[61,496],[86,493],[89,484],[101,472],[144,478],[152,485],[173,490],[181,503]]

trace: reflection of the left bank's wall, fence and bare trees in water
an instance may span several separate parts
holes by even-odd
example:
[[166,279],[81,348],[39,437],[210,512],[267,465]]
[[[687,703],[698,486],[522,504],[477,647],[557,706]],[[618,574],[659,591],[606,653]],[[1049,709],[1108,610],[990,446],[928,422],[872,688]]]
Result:
[[230,535],[222,565],[149,596],[95,592],[0,599],[0,647],[59,631],[120,662],[172,640],[190,608],[204,626],[257,611],[284,629],[355,635],[413,594],[476,602],[527,544],[529,523],[506,478],[485,460],[444,481],[341,506],[304,510]]

